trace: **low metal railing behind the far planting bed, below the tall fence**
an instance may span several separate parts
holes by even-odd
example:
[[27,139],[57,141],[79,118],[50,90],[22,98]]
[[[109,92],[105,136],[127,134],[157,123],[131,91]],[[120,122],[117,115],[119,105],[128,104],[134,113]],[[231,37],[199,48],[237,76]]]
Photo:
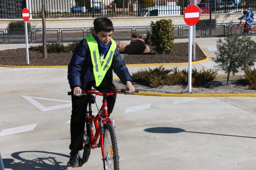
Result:
[[[223,24],[199,24],[196,25],[196,37],[224,37],[230,35],[232,26],[239,23],[223,23]],[[210,31],[211,28],[211,31]],[[47,29],[47,42],[74,42],[80,41],[83,37],[92,34],[92,28],[49,28]],[[131,40],[131,34],[140,34],[143,38],[147,36],[147,32],[151,33],[150,26],[133,26],[133,27],[115,27],[114,40]],[[211,34],[210,34],[211,33]],[[188,38],[189,26],[175,26],[174,38]],[[28,30],[29,43],[42,43],[42,29]],[[0,43],[25,43],[25,31],[10,31],[0,29]]]

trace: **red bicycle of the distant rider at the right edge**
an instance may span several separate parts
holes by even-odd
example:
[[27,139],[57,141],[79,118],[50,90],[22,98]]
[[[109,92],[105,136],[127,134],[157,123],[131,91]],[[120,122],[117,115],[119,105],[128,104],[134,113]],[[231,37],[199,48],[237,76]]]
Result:
[[242,30],[246,31],[247,35],[256,35],[256,26],[253,26],[253,28],[250,29],[248,28],[247,24],[243,24],[242,20],[240,20],[240,23],[238,25],[234,25],[231,27],[231,35],[240,35],[242,34]]

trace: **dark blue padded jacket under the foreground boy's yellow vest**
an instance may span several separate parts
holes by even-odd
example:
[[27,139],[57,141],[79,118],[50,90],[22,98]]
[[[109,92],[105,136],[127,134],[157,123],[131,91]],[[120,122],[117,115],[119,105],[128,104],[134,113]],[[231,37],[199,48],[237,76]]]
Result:
[[[122,83],[125,84],[127,81],[132,82],[131,75],[117,49],[113,55],[111,67],[105,75],[111,82],[113,79],[113,71]],[[90,57],[90,49],[87,40],[83,39],[76,46],[73,57],[68,65],[67,79],[70,88],[73,90],[74,87],[80,86],[82,90],[85,90],[92,73],[93,63]]]

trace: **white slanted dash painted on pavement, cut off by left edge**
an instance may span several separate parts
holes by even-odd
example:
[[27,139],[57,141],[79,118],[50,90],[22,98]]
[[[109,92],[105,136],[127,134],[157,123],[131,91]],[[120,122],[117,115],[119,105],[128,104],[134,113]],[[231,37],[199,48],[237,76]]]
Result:
[[7,135],[12,135],[15,133],[21,133],[21,132],[27,132],[30,130],[34,130],[36,127],[37,123],[32,124],[32,125],[26,125],[26,126],[19,126],[19,127],[12,127],[9,129],[4,129],[0,132],[0,136],[7,136]]

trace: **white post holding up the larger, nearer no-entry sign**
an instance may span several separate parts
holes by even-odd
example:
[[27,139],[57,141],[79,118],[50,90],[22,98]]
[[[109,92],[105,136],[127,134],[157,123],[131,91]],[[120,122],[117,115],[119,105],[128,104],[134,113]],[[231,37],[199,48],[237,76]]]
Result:
[[188,88],[189,92],[191,92],[191,86],[192,86],[192,32],[193,32],[193,26],[189,26],[189,73],[188,73]]

